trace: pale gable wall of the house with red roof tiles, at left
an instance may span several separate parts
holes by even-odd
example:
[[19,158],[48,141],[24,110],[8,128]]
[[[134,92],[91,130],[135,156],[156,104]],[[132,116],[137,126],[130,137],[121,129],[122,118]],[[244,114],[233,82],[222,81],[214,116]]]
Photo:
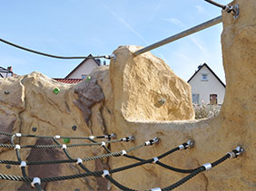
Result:
[[98,64],[94,62],[94,59],[89,59],[84,62],[78,69],[76,69],[68,79],[81,79],[82,75],[87,75],[94,71],[94,68],[98,67]]

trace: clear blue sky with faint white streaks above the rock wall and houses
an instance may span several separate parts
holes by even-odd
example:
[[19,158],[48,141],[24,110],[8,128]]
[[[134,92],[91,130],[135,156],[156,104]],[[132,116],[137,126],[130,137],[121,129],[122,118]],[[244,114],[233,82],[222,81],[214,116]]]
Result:
[[[220,14],[220,8],[203,0],[1,0],[0,38],[44,53],[107,55],[120,45],[156,43]],[[185,81],[206,62],[225,82],[221,33],[222,24],[218,24],[152,53]],[[17,74],[37,71],[64,78],[80,62],[0,43],[0,66],[13,66]]]

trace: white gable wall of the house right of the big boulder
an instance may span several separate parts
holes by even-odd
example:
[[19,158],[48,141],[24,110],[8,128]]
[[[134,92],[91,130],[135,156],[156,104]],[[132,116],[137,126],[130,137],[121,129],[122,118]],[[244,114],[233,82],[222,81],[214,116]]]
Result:
[[[208,81],[201,80],[202,73],[208,74]],[[192,94],[199,94],[200,101],[203,100],[208,104],[210,103],[210,94],[217,94],[218,104],[222,104],[225,96],[225,88],[206,66],[203,66],[201,70],[193,76],[189,84],[192,87]]]

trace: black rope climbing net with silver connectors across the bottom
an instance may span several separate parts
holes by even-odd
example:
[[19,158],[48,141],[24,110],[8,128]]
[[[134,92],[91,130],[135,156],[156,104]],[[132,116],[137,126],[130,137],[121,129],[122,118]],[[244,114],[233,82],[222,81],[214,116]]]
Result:
[[[156,187],[152,188],[151,190],[172,190],[178,186],[181,186],[188,180],[190,180],[192,177],[195,177],[199,173],[209,170],[212,167],[216,167],[217,165],[221,164],[223,161],[225,161],[228,158],[237,158],[242,152],[243,148],[237,147],[233,149],[231,152],[228,152],[226,155],[224,155],[222,158],[212,162],[212,163],[206,163],[202,165],[201,167],[195,167],[193,169],[182,169],[182,168],[177,168],[177,167],[172,167],[167,164],[163,164],[160,162],[160,159],[165,158],[172,153],[179,151],[179,150],[185,150],[187,148],[191,148],[193,145],[193,142],[191,140],[188,140],[187,142],[182,143],[182,145],[172,148],[171,150],[168,150],[165,153],[162,153],[162,155],[150,158],[150,159],[143,159],[143,158],[138,158],[135,156],[131,156],[128,153],[135,151],[140,148],[144,147],[149,147],[153,146],[155,143],[158,143],[159,139],[158,138],[153,138],[150,140],[147,140],[143,142],[140,145],[134,146],[133,148],[128,148],[126,150],[121,150],[117,152],[111,152],[107,147],[106,144],[113,144],[113,143],[118,143],[118,142],[129,142],[133,141],[133,137],[126,137],[126,138],[120,138],[120,139],[113,139],[115,138],[114,134],[111,135],[103,135],[103,136],[89,136],[89,137],[61,137],[59,135],[56,135],[54,137],[49,137],[49,136],[35,136],[35,135],[25,135],[21,133],[7,133],[7,132],[1,132],[0,135],[2,136],[8,136],[10,137],[11,144],[0,144],[0,148],[14,148],[15,149],[15,154],[17,160],[2,160],[0,159],[0,164],[6,164],[6,165],[15,165],[15,166],[20,166],[21,171],[22,171],[22,176],[15,176],[15,175],[5,175],[5,174],[0,174],[0,179],[4,180],[11,180],[11,181],[22,181],[27,184],[30,184],[31,186],[35,187],[37,190],[43,190],[41,183],[44,182],[53,182],[53,181],[62,181],[62,180],[70,180],[70,179],[75,179],[75,178],[81,178],[81,177],[104,177],[108,179],[114,186],[117,186],[118,188],[122,190],[136,190],[133,188],[129,188],[127,186],[123,186],[122,184],[118,183],[113,177],[111,177],[112,174],[117,173],[117,172],[122,172],[124,170],[133,168],[133,167],[140,167],[143,166],[144,164],[155,164],[160,167],[164,167],[168,170],[172,170],[174,172],[178,173],[183,173],[183,174],[189,174],[186,177],[183,177],[181,180],[178,182],[167,186],[167,187]],[[17,145],[15,144],[15,138],[51,138],[54,141],[54,145]],[[70,145],[64,145],[61,144],[58,139],[60,138],[70,138],[70,139],[87,139],[90,142],[89,143],[81,143],[81,144],[70,144]],[[107,141],[97,141],[98,139],[101,138],[108,138]],[[76,148],[76,147],[86,147],[86,146],[101,146],[103,149],[106,151],[106,154],[99,155],[99,156],[94,156],[94,157],[88,157],[88,158],[73,158],[70,153],[68,152],[67,148]],[[20,155],[20,149],[22,148],[61,148],[64,151],[64,154],[67,159],[64,160],[48,160],[48,161],[23,161]],[[113,169],[103,169],[102,171],[91,171],[87,167],[84,166],[83,162],[90,161],[90,160],[95,160],[95,159],[101,159],[101,158],[111,158],[111,157],[124,157],[124,158],[132,158],[134,160],[137,160],[138,162],[135,162],[131,165],[127,165],[124,167],[116,167]],[[76,174],[76,175],[67,175],[67,176],[61,176],[61,177],[28,177],[26,174],[25,167],[26,166],[38,166],[38,165],[50,165],[50,164],[65,164],[65,163],[76,163],[79,167],[81,167],[84,170],[84,173],[82,174]]]

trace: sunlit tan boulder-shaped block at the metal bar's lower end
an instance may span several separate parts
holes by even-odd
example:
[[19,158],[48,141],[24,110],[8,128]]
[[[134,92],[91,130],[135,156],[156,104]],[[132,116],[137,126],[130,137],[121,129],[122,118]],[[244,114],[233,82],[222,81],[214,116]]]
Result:
[[115,110],[127,120],[194,119],[190,85],[177,77],[161,59],[142,47],[121,46],[110,65]]

